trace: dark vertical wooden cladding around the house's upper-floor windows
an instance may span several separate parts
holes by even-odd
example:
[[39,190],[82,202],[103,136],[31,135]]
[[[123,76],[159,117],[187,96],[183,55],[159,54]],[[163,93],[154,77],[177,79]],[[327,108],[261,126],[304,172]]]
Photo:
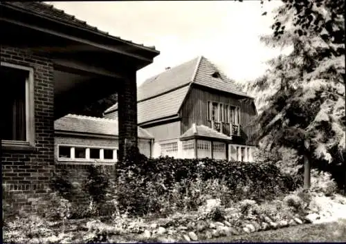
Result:
[[[208,121],[208,101],[222,102],[231,106],[239,106],[239,124],[241,126],[243,143],[245,139],[253,133],[253,126],[248,126],[255,116],[256,111],[251,104],[241,104],[239,100],[232,97],[232,95],[222,95],[220,93],[202,89],[199,86],[192,86],[188,97],[186,98],[181,108],[181,134],[185,133],[193,123],[197,125],[204,124],[210,126]],[[248,142],[251,144],[251,142]]]

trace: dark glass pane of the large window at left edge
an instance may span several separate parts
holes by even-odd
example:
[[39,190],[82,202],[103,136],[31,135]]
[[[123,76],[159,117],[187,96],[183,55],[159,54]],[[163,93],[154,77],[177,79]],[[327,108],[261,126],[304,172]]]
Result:
[[26,79],[28,71],[1,66],[3,140],[26,141]]

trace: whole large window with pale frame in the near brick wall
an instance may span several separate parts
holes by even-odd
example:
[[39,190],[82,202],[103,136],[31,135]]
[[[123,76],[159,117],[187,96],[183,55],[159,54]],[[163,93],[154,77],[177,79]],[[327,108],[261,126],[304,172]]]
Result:
[[3,144],[13,144],[15,141],[19,145],[33,145],[33,68],[1,62],[0,91],[1,97],[6,97],[1,104]]

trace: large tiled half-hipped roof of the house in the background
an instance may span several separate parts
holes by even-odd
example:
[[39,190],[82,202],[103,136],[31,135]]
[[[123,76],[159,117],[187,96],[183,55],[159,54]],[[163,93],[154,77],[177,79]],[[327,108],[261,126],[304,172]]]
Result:
[[[213,77],[214,73],[217,77]],[[137,88],[138,124],[179,113],[191,84],[249,97],[206,57],[196,57],[147,79]],[[118,104],[114,104],[104,113],[117,109]]]

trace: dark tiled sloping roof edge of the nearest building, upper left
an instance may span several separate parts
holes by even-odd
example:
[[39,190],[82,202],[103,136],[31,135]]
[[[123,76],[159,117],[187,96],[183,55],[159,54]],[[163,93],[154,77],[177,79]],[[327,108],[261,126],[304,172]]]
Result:
[[138,46],[140,48],[146,48],[146,49],[154,50],[154,51],[158,52],[158,50],[156,50],[154,46],[144,46],[143,44],[136,44],[132,41],[109,35],[108,32],[104,32],[102,30],[99,30],[95,26],[90,26],[89,24],[86,24],[86,21],[76,19],[73,15],[69,15],[66,12],[64,12],[64,10],[57,9],[53,5],[50,5],[47,3],[37,2],[37,1],[7,1],[7,2],[2,1],[1,5],[20,8],[22,10],[33,12],[37,15],[41,15],[43,17],[52,19],[54,21],[59,21],[59,22],[64,23],[64,24],[69,24],[71,26],[83,28],[84,30],[89,30],[89,31],[95,32],[99,35],[104,35],[104,36],[109,37],[109,38],[117,39],[118,41],[123,41],[127,44],[132,44],[132,45]]

